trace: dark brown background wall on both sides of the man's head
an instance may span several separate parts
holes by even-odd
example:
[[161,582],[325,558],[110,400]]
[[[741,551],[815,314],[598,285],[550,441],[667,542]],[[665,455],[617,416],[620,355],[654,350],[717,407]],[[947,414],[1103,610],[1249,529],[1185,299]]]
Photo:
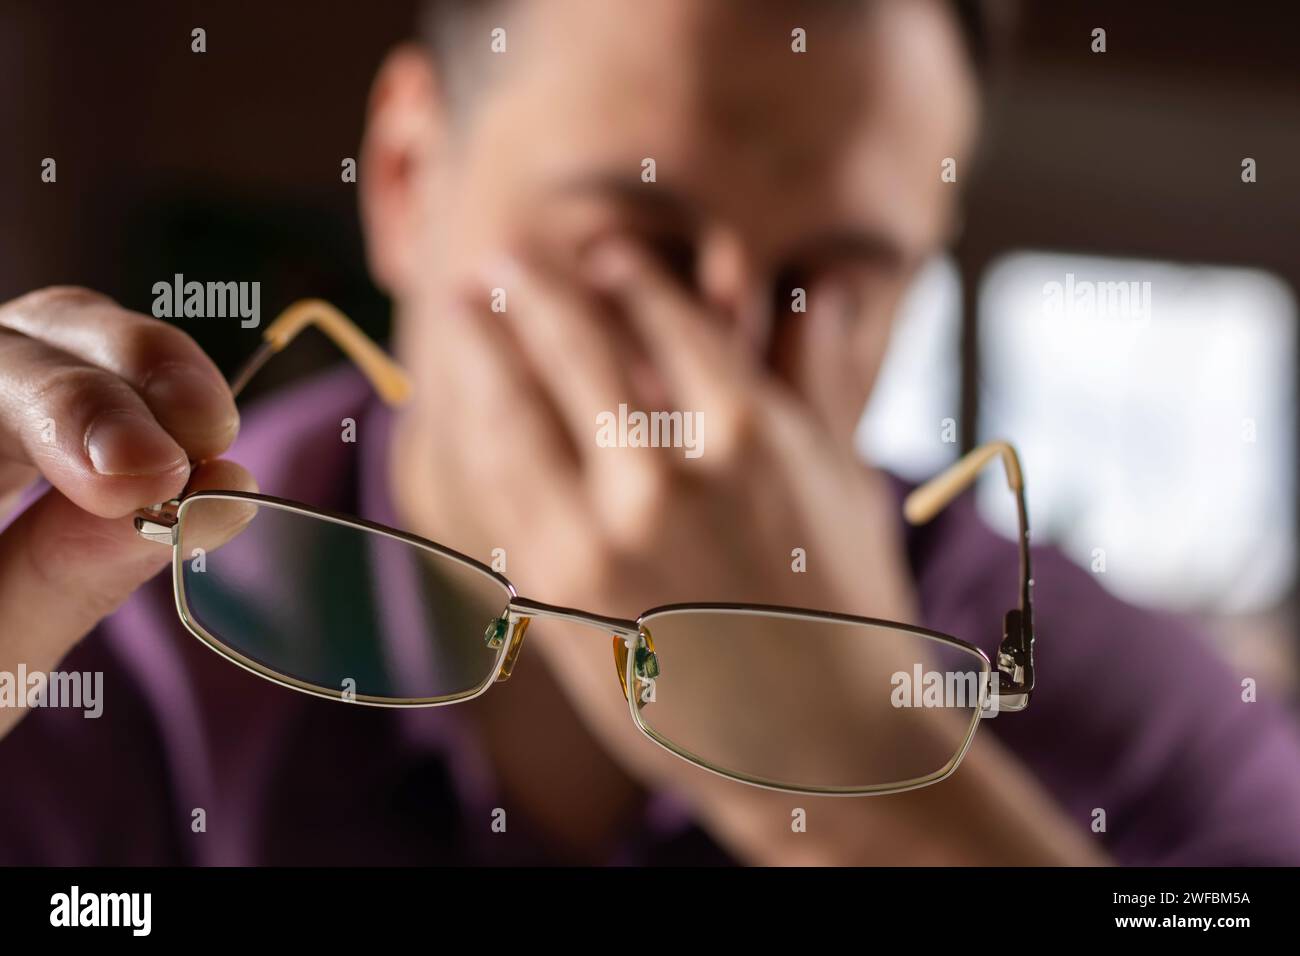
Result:
[[[416,8],[5,0],[0,299],[75,282],[144,310],[183,263],[259,277],[268,311],[317,294],[381,328],[339,161],[356,155],[370,78]],[[1017,21],[970,183],[967,280],[1008,248],[1040,247],[1254,264],[1300,289],[1292,4],[1026,3]],[[194,26],[208,31],[203,56]],[[1105,55],[1089,51],[1096,26]],[[55,186],[39,179],[46,156]],[[1243,156],[1258,161],[1253,186]],[[224,367],[244,351],[192,325]]]

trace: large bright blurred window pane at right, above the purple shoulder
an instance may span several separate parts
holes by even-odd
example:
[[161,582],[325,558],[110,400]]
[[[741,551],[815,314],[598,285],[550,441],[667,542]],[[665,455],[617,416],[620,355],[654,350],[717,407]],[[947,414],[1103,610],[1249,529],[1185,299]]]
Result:
[[[1035,540],[1128,600],[1239,613],[1296,562],[1296,300],[1244,268],[1052,252],[979,289],[980,438],[1024,457]],[[1006,492],[980,507],[1014,528]]]

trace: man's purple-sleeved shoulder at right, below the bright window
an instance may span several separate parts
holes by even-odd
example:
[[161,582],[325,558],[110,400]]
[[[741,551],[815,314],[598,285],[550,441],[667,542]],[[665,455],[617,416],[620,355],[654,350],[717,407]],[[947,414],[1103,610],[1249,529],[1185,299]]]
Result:
[[[1032,518],[1032,516],[1031,516]],[[1017,602],[1015,544],[970,494],[909,532],[927,626],[987,653]],[[1300,862],[1300,734],[1190,620],[1130,605],[1035,548],[1037,688],[993,721],[1066,813],[1123,862]]]

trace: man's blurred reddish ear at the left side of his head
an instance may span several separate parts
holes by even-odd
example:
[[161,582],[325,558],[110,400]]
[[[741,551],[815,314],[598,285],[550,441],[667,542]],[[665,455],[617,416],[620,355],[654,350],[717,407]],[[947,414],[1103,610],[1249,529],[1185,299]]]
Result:
[[370,90],[358,174],[367,260],[399,293],[419,259],[426,190],[441,156],[446,107],[433,61],[415,44],[389,53]]

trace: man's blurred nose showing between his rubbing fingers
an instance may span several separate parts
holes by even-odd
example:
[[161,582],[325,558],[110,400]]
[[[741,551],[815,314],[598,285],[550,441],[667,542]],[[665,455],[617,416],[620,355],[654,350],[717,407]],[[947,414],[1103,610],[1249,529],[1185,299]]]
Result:
[[766,354],[772,334],[772,280],[734,229],[714,226],[698,246],[697,281],[708,307],[722,316],[737,345]]

